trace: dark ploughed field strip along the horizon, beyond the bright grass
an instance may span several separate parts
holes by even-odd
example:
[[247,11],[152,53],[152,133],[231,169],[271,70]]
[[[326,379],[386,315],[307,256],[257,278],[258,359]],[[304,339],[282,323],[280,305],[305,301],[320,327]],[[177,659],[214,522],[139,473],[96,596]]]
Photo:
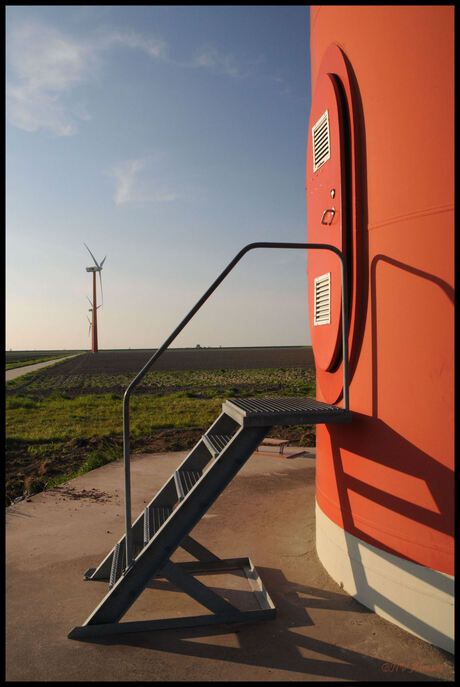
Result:
[[[80,394],[124,392],[152,356],[152,351],[99,351],[69,358],[52,367],[9,382],[6,394],[45,398],[51,393]],[[204,388],[238,393],[280,389],[283,383],[313,370],[311,348],[184,349],[166,351],[147,372],[137,393],[202,391]],[[244,371],[251,370],[247,374]],[[257,373],[256,371],[260,371]],[[264,371],[264,372],[262,372]]]

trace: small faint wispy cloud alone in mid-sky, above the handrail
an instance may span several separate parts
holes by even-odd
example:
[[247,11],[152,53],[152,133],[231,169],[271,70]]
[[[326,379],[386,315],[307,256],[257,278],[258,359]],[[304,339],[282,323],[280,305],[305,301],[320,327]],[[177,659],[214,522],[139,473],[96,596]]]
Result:
[[115,165],[109,172],[115,181],[115,204],[168,203],[185,198],[188,192],[177,181],[174,184],[166,166],[161,165],[162,158],[148,155]]

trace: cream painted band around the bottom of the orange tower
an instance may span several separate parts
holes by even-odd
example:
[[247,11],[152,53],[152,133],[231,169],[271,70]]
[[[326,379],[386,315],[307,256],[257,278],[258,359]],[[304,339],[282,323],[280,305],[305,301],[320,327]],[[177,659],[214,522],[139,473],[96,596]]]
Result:
[[316,504],[316,550],[332,579],[378,615],[455,653],[454,578],[345,532]]

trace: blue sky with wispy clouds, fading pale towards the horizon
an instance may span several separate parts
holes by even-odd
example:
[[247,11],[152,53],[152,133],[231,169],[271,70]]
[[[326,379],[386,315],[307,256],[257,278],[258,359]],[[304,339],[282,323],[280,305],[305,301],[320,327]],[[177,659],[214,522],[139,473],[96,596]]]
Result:
[[[301,6],[9,6],[6,348],[156,348],[252,241],[305,241]],[[98,298],[100,293],[98,293]],[[173,346],[310,342],[306,256],[243,259]]]

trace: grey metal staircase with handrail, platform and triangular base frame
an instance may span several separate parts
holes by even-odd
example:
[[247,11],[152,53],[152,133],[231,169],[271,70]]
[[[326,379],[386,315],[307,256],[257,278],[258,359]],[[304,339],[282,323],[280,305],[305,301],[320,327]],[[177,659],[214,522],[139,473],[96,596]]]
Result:
[[[158,359],[203,305],[240,258],[252,248],[317,248],[337,254],[342,267],[342,347],[344,407],[313,398],[230,399],[222,413],[193,447],[168,481],[131,524],[129,470],[129,397],[132,388]],[[81,626],[68,637],[80,639],[108,634],[190,627],[230,622],[267,620],[275,607],[249,558],[220,559],[190,536],[191,530],[227,487],[274,425],[302,425],[348,422],[348,353],[346,337],[346,283],[343,256],[326,244],[249,244],[233,259],[220,277],[198,301],[128,386],[123,405],[126,531],[97,568],[85,573],[87,580],[107,580],[109,591]],[[196,560],[173,563],[170,557],[179,547]],[[239,610],[206,587],[193,575],[241,569],[258,601],[258,610]],[[173,585],[201,603],[211,614],[120,622],[153,577],[166,577]]]

